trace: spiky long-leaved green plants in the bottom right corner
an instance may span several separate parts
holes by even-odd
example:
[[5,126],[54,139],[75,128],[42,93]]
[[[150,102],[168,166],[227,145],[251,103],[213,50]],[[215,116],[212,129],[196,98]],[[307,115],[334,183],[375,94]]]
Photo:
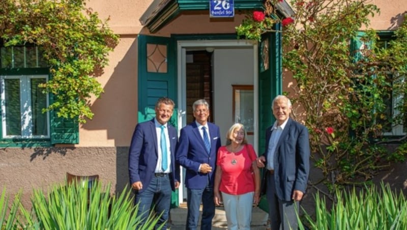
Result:
[[319,194],[315,196],[315,218],[305,215],[299,229],[407,229],[407,200],[389,185],[350,193],[336,192],[338,202],[329,210]]

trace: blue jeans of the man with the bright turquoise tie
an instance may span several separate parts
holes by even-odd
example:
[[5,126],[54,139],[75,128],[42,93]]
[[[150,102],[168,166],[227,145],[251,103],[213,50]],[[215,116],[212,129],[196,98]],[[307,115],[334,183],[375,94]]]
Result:
[[[142,217],[142,223],[147,220],[153,202],[156,214],[160,215],[162,213],[156,227],[168,220],[171,204],[171,191],[169,175],[163,177],[153,176],[147,189],[136,194],[134,203],[139,204],[137,216]],[[163,229],[167,229],[167,223],[165,223]]]

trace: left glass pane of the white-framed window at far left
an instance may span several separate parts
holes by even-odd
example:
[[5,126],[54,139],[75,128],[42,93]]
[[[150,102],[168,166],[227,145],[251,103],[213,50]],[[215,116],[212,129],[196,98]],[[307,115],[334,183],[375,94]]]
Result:
[[20,80],[5,79],[6,135],[21,135]]

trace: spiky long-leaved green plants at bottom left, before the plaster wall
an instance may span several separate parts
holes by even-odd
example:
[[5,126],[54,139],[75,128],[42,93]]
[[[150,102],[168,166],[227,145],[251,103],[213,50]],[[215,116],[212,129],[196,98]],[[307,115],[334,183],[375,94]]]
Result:
[[[137,216],[138,205],[133,205],[131,191],[125,189],[118,196],[112,196],[108,192],[110,185],[102,188],[99,183],[93,182],[92,187],[88,186],[88,181],[85,181],[80,184],[54,185],[49,192],[34,190],[31,212],[20,204],[21,193],[16,196],[11,210],[7,212],[4,190],[0,198],[1,229],[148,230],[157,225],[160,215],[153,213],[141,224],[141,219]],[[16,218],[18,207],[20,218]],[[7,214],[9,217],[5,219]]]

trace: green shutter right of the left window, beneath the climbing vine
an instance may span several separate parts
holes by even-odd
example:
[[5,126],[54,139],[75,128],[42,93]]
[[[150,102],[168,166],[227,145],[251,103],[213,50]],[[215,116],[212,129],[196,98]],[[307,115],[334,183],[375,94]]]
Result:
[[[50,97],[52,101],[52,96]],[[50,111],[51,143],[79,143],[79,123],[77,119],[59,118],[56,111]]]

